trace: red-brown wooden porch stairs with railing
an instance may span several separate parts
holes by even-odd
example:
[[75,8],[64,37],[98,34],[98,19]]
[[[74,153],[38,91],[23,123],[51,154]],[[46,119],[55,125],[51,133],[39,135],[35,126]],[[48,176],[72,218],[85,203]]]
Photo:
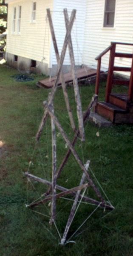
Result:
[[[97,75],[96,75],[96,87],[95,94],[99,94],[99,80],[100,80],[100,68],[101,59],[108,51],[110,51],[108,77],[105,90],[105,101],[98,102],[95,108],[95,112],[108,118],[110,121],[116,124],[128,123],[133,124],[133,54],[116,52],[116,45],[122,44],[125,47],[133,46],[133,44],[111,42],[111,45],[104,50],[99,56],[96,57],[98,61]],[[130,58],[132,59],[131,67],[115,66],[114,61],[116,57]],[[129,80],[114,79],[113,71],[130,71]],[[126,94],[112,93],[113,85],[127,85]]]

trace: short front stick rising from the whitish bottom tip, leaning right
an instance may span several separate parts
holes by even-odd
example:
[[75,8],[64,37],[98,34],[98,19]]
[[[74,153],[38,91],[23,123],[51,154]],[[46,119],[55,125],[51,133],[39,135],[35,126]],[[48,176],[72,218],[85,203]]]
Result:
[[[86,163],[86,165],[85,165],[86,171],[88,171],[89,164],[90,164],[90,161],[87,161],[87,163]],[[82,185],[82,184],[84,183],[84,181],[85,181],[85,173],[83,173],[79,185]],[[75,210],[76,210],[76,205],[77,205],[77,203],[78,203],[80,193],[81,193],[81,190],[79,189],[79,190],[76,192],[76,197],[75,197],[73,206],[72,206],[72,208],[71,208],[71,212],[70,212],[70,215],[69,215],[69,218],[68,218],[68,222],[67,222],[66,227],[65,227],[64,234],[63,234],[63,236],[62,236],[61,244],[65,244],[65,240],[66,240],[66,237],[67,237],[67,235],[68,235],[68,231],[69,231],[70,226],[71,226],[71,223],[72,223],[72,221],[73,221],[73,219],[74,219],[74,213],[75,213]]]

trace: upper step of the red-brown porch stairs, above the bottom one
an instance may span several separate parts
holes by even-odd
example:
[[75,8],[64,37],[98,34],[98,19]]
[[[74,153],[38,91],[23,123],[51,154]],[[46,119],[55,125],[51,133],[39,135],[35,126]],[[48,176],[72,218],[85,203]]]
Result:
[[121,109],[127,110],[127,94],[111,93],[109,96],[109,102]]

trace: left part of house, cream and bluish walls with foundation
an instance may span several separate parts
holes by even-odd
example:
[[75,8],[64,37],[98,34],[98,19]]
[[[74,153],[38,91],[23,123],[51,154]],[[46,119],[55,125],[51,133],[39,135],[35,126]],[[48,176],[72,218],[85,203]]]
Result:
[[[8,3],[7,62],[20,69],[37,65],[44,74],[54,74],[57,61],[51,41],[46,9],[50,8],[59,52],[65,38],[63,9],[70,14],[76,9],[76,20],[72,31],[76,65],[82,65],[85,29],[86,0],[6,0]],[[66,53],[64,68],[69,68],[69,54]]]

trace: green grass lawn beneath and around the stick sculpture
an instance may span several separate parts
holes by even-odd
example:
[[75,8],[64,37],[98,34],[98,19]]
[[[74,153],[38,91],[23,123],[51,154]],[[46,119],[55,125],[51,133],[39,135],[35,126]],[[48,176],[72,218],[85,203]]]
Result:
[[[31,174],[51,180],[49,119],[39,146],[35,146],[35,135],[43,113],[42,101],[47,100],[50,90],[36,87],[35,83],[42,76],[33,75],[33,81],[16,82],[11,76],[17,73],[14,69],[0,66],[0,256],[133,255],[133,127],[114,125],[99,129],[90,122],[86,124],[85,142],[77,141],[75,148],[84,163],[91,160],[91,170],[115,209],[112,212],[98,209],[72,238],[76,243],[61,246],[56,229],[50,229],[49,218],[45,216],[50,215],[48,203],[34,208],[34,211],[25,207],[47,190],[45,185],[28,182],[24,177],[29,162],[32,161]],[[126,89],[121,86],[113,90],[122,92]],[[80,86],[83,111],[93,92],[93,83]],[[102,82],[101,100],[104,99],[104,92],[105,83]],[[68,94],[77,123],[72,87],[68,88]],[[56,116],[72,139],[74,134],[61,88],[57,90],[54,106]],[[99,137],[96,136],[98,131]],[[57,167],[66,151],[65,142],[57,130]],[[58,184],[74,187],[79,184],[81,176],[82,171],[71,156]],[[88,189],[87,195],[96,198],[91,189]],[[57,200],[56,223],[61,235],[71,205],[70,200]],[[95,207],[81,204],[68,238]]]

